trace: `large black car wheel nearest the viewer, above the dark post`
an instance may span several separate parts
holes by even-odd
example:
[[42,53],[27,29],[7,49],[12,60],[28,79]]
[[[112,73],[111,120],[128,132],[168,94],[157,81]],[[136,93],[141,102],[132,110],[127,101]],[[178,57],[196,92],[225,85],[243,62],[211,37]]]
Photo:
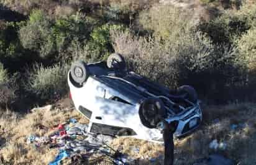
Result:
[[167,117],[167,110],[162,100],[149,98],[140,104],[139,116],[145,127],[156,128],[157,124]]

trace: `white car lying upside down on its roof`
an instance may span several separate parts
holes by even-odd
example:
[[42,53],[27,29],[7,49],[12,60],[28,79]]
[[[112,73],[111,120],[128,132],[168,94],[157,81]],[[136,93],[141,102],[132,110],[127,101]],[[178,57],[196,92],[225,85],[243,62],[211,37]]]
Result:
[[68,85],[76,109],[89,119],[91,133],[162,141],[166,124],[181,138],[202,121],[193,87],[171,91],[153,83],[127,71],[119,54],[98,63],[73,63]]

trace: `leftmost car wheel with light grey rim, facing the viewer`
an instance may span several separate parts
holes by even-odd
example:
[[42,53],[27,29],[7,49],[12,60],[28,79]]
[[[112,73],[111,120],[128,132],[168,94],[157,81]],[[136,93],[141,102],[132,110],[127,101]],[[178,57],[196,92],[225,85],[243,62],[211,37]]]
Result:
[[83,84],[89,76],[89,69],[84,61],[76,61],[73,63],[70,72],[71,78],[80,85]]

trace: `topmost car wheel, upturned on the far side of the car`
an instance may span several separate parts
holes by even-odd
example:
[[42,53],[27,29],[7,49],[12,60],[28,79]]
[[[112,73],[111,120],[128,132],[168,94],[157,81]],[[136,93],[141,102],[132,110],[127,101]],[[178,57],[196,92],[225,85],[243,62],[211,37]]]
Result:
[[107,58],[107,67],[112,69],[126,69],[124,57],[118,53],[113,53]]

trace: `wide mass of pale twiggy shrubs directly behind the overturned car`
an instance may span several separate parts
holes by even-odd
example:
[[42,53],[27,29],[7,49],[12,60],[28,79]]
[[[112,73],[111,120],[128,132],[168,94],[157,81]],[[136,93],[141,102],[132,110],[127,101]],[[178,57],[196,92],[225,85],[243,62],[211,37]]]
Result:
[[200,33],[181,33],[175,40],[170,36],[162,43],[130,32],[112,32],[112,42],[132,70],[171,88],[193,84],[202,91],[216,90],[231,81],[226,75],[232,75],[234,69],[232,51],[219,51]]

